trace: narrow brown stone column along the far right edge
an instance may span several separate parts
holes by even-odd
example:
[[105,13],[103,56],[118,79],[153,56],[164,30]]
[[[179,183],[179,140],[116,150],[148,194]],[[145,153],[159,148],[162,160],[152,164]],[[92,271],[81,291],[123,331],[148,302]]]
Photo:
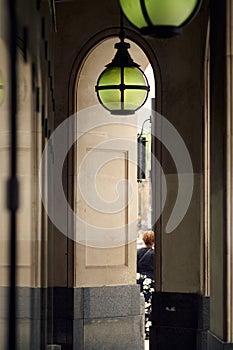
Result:
[[232,13],[211,1],[211,231],[208,349],[233,349],[232,336]]

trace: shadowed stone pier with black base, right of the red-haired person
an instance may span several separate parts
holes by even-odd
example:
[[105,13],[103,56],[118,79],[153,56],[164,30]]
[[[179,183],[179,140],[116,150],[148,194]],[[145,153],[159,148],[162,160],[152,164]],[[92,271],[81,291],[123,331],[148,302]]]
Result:
[[[154,214],[162,212],[155,224],[156,292],[150,334],[153,350],[207,349],[203,111],[208,6],[206,2],[203,5],[180,37],[171,38],[166,44],[153,42],[163,83],[161,121],[155,113],[152,122],[152,133],[158,139],[153,151],[162,168],[159,172],[158,164],[152,168]],[[192,169],[186,166],[187,157]],[[187,205],[191,177],[190,203],[182,220],[169,229],[167,224],[172,215],[174,221],[177,219],[173,213],[177,202],[180,210]],[[166,191],[162,180],[166,182]]]

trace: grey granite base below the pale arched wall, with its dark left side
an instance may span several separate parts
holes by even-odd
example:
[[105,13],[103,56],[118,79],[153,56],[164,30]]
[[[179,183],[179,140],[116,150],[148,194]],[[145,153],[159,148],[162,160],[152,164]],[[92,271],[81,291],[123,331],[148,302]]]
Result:
[[54,342],[62,350],[141,350],[144,305],[138,285],[54,289]]

